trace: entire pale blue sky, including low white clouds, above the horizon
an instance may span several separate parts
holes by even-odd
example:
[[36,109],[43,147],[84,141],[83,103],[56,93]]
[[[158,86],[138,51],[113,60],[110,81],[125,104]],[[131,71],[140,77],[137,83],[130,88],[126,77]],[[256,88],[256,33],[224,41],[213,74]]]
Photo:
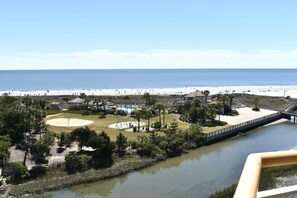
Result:
[[296,8],[294,0],[1,1],[0,69],[297,67]]

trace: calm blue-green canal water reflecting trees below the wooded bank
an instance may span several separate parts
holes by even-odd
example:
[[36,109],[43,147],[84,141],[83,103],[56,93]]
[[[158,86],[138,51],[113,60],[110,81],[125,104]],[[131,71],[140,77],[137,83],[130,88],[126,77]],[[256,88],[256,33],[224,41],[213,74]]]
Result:
[[284,122],[168,159],[141,171],[49,193],[70,198],[208,197],[237,183],[250,153],[297,146],[297,124]]

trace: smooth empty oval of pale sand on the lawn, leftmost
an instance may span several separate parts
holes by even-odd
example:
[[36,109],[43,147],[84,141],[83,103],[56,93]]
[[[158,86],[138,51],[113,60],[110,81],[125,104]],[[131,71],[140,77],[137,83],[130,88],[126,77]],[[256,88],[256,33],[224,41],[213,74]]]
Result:
[[83,120],[78,118],[55,118],[48,120],[46,124],[51,126],[59,126],[59,127],[77,127],[77,126],[86,126],[89,124],[93,124],[94,122],[91,120]]

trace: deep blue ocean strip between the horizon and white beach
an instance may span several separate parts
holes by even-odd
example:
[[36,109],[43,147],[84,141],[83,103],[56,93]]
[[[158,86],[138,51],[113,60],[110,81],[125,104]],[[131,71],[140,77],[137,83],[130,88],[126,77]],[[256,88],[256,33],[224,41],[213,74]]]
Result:
[[297,85],[297,69],[5,70],[0,91]]

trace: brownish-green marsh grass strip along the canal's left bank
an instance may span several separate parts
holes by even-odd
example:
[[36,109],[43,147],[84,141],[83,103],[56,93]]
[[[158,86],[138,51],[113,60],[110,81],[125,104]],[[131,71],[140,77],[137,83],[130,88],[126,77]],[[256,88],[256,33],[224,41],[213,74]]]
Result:
[[74,185],[104,180],[117,177],[131,171],[135,171],[157,163],[156,160],[147,158],[131,158],[116,162],[111,168],[100,170],[89,170],[75,175],[54,177],[51,179],[39,179],[24,184],[9,186],[8,195],[21,197],[24,195],[40,194],[68,188]]

